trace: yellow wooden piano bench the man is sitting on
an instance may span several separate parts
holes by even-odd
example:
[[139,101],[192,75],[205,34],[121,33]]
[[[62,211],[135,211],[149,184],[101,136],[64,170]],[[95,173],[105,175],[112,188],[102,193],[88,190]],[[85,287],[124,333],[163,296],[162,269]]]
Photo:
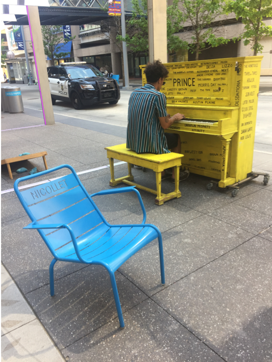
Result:
[[[183,154],[180,153],[164,153],[164,154],[154,154],[154,153],[136,153],[126,147],[126,143],[106,147],[107,157],[110,161],[110,171],[111,171],[111,180],[110,186],[116,186],[121,182],[129,185],[136,186],[138,189],[151,192],[157,195],[155,199],[156,205],[162,205],[165,201],[181,197],[181,192],[179,190],[179,174],[181,166],[181,158]],[[114,178],[114,165],[113,160],[125,161],[128,163],[129,174],[128,176],[123,176],[119,178]],[[147,187],[133,183],[133,175],[131,173],[131,165],[141,166],[144,168],[149,168],[156,172],[156,183],[157,190],[152,190]],[[175,167],[175,191],[170,192],[169,194],[163,194],[161,192],[161,173],[166,168]]]

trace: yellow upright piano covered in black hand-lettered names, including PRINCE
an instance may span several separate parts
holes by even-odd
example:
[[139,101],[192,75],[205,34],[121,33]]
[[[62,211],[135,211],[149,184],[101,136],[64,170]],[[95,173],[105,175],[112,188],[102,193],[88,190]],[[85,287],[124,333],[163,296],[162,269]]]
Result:
[[252,162],[262,58],[164,64],[167,112],[186,117],[166,130],[180,135],[183,166],[232,187],[233,196],[239,184],[260,174],[252,173]]

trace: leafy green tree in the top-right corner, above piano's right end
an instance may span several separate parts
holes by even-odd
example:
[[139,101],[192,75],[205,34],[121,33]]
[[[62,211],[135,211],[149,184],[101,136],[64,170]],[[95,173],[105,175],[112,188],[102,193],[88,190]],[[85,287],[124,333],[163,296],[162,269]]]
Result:
[[254,56],[262,53],[261,38],[272,37],[272,27],[263,22],[265,17],[272,16],[271,0],[231,0],[227,3],[226,10],[234,12],[236,19],[242,18],[244,32],[237,39],[244,39],[244,45],[252,43]]

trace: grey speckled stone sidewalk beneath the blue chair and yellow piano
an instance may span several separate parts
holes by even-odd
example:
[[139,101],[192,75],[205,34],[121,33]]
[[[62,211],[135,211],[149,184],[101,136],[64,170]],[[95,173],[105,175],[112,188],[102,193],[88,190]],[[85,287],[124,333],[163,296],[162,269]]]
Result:
[[[40,124],[37,117],[2,113],[3,130]],[[263,132],[269,140],[269,131]],[[2,158],[45,150],[50,168],[67,163],[77,172],[89,170],[79,177],[94,193],[109,188],[109,168],[94,170],[108,165],[104,147],[124,142],[56,123],[3,132]],[[253,170],[272,175],[271,166],[272,145],[258,143]],[[14,180],[23,176],[15,173],[18,167],[44,169],[39,159],[12,165]],[[117,177],[126,173],[126,165],[116,166]],[[133,174],[139,184],[155,188],[153,172],[134,168]],[[1,176],[2,191],[12,189],[5,165]],[[50,297],[52,255],[37,232],[22,229],[29,218],[15,193],[2,194],[2,360],[270,362],[271,183],[264,186],[258,177],[233,198],[230,191],[206,190],[208,180],[191,174],[180,184],[182,197],[162,206],[140,192],[147,222],[162,232],[166,285],[160,285],[154,241],[116,272],[123,330],[101,267],[58,262],[56,295]],[[163,192],[172,188],[163,182]],[[134,195],[95,202],[111,223],[141,221]]]

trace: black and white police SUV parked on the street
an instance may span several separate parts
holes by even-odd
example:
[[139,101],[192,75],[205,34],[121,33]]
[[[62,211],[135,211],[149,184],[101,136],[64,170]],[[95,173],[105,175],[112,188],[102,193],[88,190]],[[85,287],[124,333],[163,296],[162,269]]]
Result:
[[53,105],[56,100],[64,100],[79,110],[98,103],[116,105],[120,99],[116,80],[86,62],[48,67],[47,73]]

